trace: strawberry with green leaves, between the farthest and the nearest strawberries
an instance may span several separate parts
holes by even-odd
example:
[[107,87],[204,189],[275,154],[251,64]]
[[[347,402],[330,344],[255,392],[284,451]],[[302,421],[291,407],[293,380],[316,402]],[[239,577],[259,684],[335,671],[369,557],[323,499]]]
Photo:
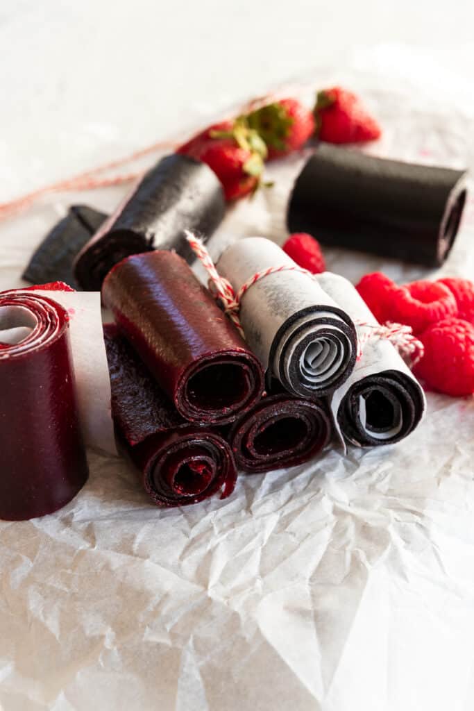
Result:
[[269,159],[297,151],[315,129],[312,112],[296,99],[281,99],[255,109],[247,114],[247,122],[264,139]]

